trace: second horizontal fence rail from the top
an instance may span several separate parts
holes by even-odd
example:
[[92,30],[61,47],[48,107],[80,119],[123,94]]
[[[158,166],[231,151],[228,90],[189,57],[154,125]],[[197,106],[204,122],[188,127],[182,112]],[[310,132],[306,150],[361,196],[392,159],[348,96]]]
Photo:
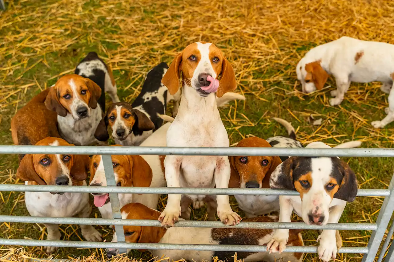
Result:
[[[189,195],[264,195],[298,196],[297,191],[269,188],[169,188],[125,186],[50,186],[50,185],[0,185],[0,191],[11,192],[73,192],[73,193],[123,193],[123,194],[189,194]],[[357,196],[390,196],[387,189],[359,189]]]

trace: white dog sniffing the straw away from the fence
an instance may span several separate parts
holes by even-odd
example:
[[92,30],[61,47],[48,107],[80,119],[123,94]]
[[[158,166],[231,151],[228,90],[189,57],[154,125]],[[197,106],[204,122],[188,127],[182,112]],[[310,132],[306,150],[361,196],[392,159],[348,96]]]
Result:
[[382,82],[380,89],[389,94],[387,116],[371,124],[383,128],[394,121],[394,59],[390,54],[394,54],[392,44],[341,37],[309,50],[297,64],[297,79],[303,92],[310,93],[322,89],[328,76],[333,75],[336,90],[331,91],[335,96],[329,100],[332,106],[342,103],[351,82]]

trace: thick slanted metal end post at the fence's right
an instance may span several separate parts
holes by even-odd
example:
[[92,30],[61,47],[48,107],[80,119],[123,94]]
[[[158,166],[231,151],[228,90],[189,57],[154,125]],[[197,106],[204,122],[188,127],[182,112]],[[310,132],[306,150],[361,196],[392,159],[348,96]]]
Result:
[[380,243],[387,229],[388,222],[391,219],[394,210],[394,176],[391,178],[390,185],[388,186],[390,196],[385,197],[382,207],[377,216],[377,229],[373,231],[368,242],[368,254],[362,257],[361,262],[374,262],[377,251],[379,250]]

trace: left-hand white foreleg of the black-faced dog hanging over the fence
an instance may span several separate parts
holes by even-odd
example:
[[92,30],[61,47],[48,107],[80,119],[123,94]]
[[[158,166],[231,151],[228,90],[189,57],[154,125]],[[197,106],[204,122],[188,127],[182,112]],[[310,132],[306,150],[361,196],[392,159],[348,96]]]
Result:
[[[293,205],[291,199],[286,196],[279,196],[279,222],[291,223],[291,216],[293,213]],[[275,234],[269,240],[267,244],[267,251],[269,253],[275,253],[279,251],[279,254],[284,251],[286,244],[289,240],[289,229],[277,229]]]

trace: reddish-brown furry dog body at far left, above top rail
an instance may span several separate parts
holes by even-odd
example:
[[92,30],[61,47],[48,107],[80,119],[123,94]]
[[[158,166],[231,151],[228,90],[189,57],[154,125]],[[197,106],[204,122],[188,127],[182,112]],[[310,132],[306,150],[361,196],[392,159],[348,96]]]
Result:
[[[33,97],[11,119],[11,136],[15,145],[32,146],[46,137],[60,137],[55,112],[44,104],[50,89]],[[24,155],[19,155],[19,161]]]

